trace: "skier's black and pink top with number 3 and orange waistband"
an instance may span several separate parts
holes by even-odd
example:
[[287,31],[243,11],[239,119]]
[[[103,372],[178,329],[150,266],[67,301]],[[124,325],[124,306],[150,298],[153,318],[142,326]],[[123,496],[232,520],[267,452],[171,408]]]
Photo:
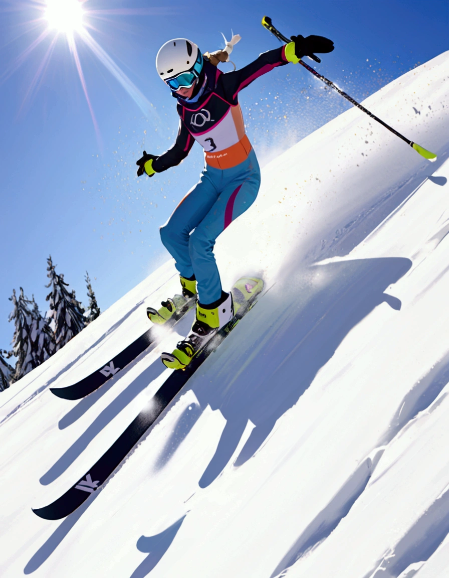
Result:
[[268,50],[244,68],[227,73],[204,58],[205,90],[197,102],[174,95],[181,119],[178,136],[175,144],[153,161],[154,170],[159,173],[179,164],[189,154],[194,140],[204,148],[209,166],[227,169],[245,161],[252,147],[245,134],[238,93],[259,76],[285,64],[284,46]]

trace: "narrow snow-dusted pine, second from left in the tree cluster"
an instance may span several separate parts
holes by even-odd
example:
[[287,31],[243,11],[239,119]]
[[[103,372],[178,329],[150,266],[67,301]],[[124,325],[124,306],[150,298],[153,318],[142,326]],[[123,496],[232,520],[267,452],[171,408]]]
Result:
[[20,287],[18,298],[16,297],[16,290],[13,289],[13,295],[9,300],[14,305],[14,309],[9,316],[9,321],[14,320],[15,327],[12,354],[17,358],[16,369],[11,381],[17,381],[36,366],[33,359],[31,341],[33,314],[29,308],[31,301],[24,296],[23,288]]

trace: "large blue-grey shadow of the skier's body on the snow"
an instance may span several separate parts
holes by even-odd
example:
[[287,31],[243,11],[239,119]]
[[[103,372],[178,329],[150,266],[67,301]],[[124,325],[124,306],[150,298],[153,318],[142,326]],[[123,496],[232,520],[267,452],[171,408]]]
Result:
[[[227,422],[200,487],[207,487],[222,472],[248,420],[255,428],[235,466],[259,450],[276,420],[297,403],[353,327],[383,302],[400,309],[399,299],[384,291],[410,266],[405,258],[318,265],[300,279],[290,277],[288,284],[276,286],[277,295],[269,293],[261,299],[234,330],[234,339],[226,340],[193,380],[201,407],[209,404],[219,409]],[[214,363],[214,387],[208,362]]]

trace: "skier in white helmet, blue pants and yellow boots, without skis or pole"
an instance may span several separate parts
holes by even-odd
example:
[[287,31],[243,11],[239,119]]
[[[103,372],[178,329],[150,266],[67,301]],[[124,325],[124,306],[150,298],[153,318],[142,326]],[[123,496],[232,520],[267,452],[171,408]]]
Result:
[[[233,297],[222,289],[213,249],[219,234],[255,201],[260,186],[260,169],[245,134],[238,93],[277,66],[334,50],[332,40],[324,36],[291,36],[291,42],[260,54],[244,68],[222,73],[216,65],[229,61],[238,40],[240,36],[233,36],[225,50],[203,55],[195,43],[176,38],[156,55],[158,74],[177,99],[179,129],[176,142],[165,153],[143,151],[136,163],[137,176],[145,172],[152,177],[178,165],[194,140],[203,146],[205,157],[199,183],[160,228],[162,243],[175,259],[183,295],[198,298],[191,334],[173,354],[162,355],[170,368],[188,365],[201,344],[234,316]],[[148,314],[152,321],[164,323],[175,312],[175,303],[169,299],[152,312]]]

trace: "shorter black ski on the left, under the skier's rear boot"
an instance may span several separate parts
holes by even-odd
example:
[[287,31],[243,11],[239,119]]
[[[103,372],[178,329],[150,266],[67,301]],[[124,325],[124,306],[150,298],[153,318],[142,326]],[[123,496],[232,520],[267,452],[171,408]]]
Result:
[[[196,303],[196,297],[188,299],[184,306],[176,312],[165,324],[165,327],[173,327],[182,317],[192,309]],[[91,373],[84,379],[77,381],[72,386],[51,387],[50,391],[62,399],[81,399],[97,390],[103,383],[113,377],[119,370],[134,361],[138,355],[143,353],[155,341],[154,328],[148,329],[143,335],[130,343],[123,351],[115,355],[107,364]]]

